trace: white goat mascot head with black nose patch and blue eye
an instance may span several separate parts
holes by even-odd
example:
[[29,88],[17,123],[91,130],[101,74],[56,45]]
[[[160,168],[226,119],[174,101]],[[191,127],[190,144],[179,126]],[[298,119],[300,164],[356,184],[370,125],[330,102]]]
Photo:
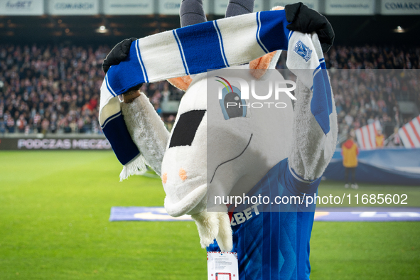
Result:
[[291,98],[276,94],[286,82],[276,70],[253,74],[247,64],[193,77],[162,162],[170,215],[226,210],[215,196],[246,193],[289,154]]

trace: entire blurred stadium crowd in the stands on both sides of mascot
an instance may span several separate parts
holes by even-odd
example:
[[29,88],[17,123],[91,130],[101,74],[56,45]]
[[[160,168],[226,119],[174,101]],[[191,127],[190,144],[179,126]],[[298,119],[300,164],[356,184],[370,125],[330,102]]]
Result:
[[[102,133],[97,121],[101,64],[107,46],[0,45],[0,135],[4,133]],[[420,48],[333,46],[325,55],[339,117],[340,137],[379,119],[395,126],[409,122],[399,100],[420,106]],[[278,68],[284,68],[285,59]],[[360,69],[372,69],[371,72]],[[387,72],[373,69],[388,69]],[[183,92],[168,82],[143,85],[168,129],[173,114],[161,103]]]

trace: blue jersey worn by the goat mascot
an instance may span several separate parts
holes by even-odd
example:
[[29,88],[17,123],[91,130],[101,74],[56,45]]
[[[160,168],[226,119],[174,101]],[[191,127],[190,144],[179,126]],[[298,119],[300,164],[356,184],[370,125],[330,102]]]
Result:
[[[271,168],[248,196],[269,196],[271,202],[276,197],[298,196],[304,201],[305,196],[316,193],[320,181],[304,181],[289,168],[286,158]],[[271,202],[237,208],[232,215],[232,252],[237,252],[239,280],[309,279],[315,205]],[[217,242],[207,249],[220,251]]]

